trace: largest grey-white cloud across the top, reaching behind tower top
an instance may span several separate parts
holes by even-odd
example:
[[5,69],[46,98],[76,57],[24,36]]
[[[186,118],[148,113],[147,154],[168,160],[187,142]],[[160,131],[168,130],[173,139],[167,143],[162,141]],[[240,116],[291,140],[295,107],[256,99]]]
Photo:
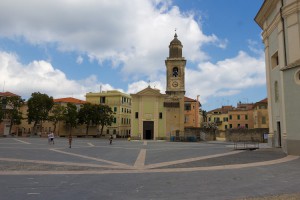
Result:
[[[175,28],[188,47],[185,55],[189,60],[209,58],[201,50],[204,44],[224,48],[216,35],[202,32],[192,12],[181,13],[171,0],[0,2],[0,36],[22,37],[34,45],[54,43],[60,51],[85,52],[90,61],[111,61],[127,77],[157,75],[164,70]],[[79,56],[77,63],[81,62]]]

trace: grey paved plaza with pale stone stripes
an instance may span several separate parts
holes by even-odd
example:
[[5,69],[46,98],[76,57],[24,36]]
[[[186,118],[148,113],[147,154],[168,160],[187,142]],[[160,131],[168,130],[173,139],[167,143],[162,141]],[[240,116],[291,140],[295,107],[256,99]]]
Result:
[[300,199],[300,158],[231,143],[0,139],[0,199]]

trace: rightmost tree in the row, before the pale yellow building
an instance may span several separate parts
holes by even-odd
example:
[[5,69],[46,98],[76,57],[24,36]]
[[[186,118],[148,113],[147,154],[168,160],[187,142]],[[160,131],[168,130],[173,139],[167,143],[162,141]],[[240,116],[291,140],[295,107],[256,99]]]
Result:
[[113,111],[108,105],[96,105],[96,120],[95,124],[100,125],[100,135],[103,134],[104,126],[111,126],[114,121]]

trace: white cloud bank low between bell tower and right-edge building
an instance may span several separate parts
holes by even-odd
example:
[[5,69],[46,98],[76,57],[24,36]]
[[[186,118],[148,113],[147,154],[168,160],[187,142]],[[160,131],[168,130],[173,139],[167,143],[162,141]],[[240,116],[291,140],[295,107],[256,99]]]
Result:
[[265,62],[240,51],[234,58],[217,63],[204,62],[198,69],[186,69],[187,95],[201,95],[202,103],[210,96],[231,96],[241,90],[265,85]]

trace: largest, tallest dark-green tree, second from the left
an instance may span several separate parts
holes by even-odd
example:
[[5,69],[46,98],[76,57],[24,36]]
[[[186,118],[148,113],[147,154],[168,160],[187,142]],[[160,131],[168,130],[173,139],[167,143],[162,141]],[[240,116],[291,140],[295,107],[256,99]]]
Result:
[[[48,120],[49,111],[53,107],[53,97],[49,97],[47,94],[41,94],[40,92],[34,92],[28,99],[27,105],[27,117],[28,123],[33,125],[33,130],[36,132],[36,126],[43,121]],[[40,126],[42,128],[42,126]]]

